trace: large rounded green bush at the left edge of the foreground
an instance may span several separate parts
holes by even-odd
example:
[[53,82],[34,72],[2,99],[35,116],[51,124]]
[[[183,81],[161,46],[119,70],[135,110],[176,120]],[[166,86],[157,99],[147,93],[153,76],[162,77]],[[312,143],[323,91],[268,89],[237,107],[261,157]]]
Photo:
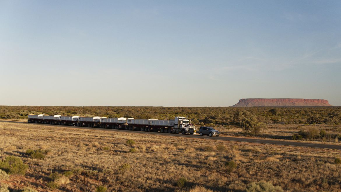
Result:
[[18,157],[8,156],[5,160],[0,161],[0,169],[10,175],[25,175],[27,168],[28,165]]

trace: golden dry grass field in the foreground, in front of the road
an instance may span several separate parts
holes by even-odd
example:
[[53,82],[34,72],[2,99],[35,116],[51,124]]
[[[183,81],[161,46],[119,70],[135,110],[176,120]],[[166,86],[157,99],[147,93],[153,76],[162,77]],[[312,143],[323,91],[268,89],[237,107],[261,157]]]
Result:
[[[129,152],[128,139],[136,142],[135,153]],[[226,150],[217,150],[221,145]],[[204,146],[212,150],[203,150]],[[25,155],[27,149],[50,152],[45,160],[32,159]],[[247,184],[261,180],[286,191],[341,190],[341,167],[334,163],[341,152],[332,149],[0,122],[0,154],[20,157],[29,165],[25,176],[1,181],[11,189],[48,191],[51,173],[72,171],[70,183],[58,190],[106,186],[108,191],[244,191]],[[231,160],[237,167],[226,173],[223,167]],[[177,186],[181,177],[187,179],[183,188]]]

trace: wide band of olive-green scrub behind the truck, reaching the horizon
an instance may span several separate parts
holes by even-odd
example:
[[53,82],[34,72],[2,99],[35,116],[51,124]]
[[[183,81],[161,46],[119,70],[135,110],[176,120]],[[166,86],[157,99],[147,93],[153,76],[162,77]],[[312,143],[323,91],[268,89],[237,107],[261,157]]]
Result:
[[194,124],[238,125],[250,132],[264,124],[341,124],[341,107],[115,107],[115,106],[0,106],[0,118],[27,118],[28,114],[63,116],[173,119],[188,116]]

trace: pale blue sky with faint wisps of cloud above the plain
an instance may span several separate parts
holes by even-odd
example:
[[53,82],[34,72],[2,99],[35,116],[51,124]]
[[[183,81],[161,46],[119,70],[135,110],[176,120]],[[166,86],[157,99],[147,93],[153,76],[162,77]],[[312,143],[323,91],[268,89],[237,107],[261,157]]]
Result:
[[341,1],[0,0],[0,105],[341,105]]

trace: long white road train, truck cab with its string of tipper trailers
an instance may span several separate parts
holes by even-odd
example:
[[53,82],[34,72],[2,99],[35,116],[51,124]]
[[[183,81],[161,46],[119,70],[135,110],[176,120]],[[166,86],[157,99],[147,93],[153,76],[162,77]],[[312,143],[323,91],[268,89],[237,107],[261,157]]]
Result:
[[58,124],[78,127],[98,127],[108,129],[125,129],[131,131],[147,131],[161,133],[195,134],[196,129],[192,122],[184,117],[175,117],[171,120],[134,119],[134,118],[106,118],[106,117],[79,117],[60,115],[28,115],[29,123]]

